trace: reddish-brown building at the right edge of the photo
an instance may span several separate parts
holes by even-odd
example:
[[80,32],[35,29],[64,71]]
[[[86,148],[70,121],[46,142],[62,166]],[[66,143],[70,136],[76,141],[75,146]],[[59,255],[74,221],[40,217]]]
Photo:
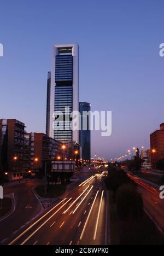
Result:
[[156,130],[150,135],[151,165],[156,167],[157,161],[164,159],[164,123],[160,125],[160,130]]

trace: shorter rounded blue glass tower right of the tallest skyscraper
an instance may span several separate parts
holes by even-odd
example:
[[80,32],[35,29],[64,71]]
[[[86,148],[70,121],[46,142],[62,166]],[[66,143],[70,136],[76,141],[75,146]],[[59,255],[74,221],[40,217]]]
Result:
[[[80,115],[81,115],[81,130],[80,130],[80,147],[82,148],[82,158],[85,160],[91,159],[91,131],[89,130],[89,115],[86,115],[85,112],[91,110],[90,103],[80,102]],[[86,130],[83,130],[83,121],[87,121]]]

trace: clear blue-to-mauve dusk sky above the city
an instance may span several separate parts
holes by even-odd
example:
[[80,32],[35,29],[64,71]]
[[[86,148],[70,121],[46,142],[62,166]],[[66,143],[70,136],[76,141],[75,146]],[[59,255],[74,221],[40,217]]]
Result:
[[92,132],[92,156],[149,148],[164,122],[163,10],[163,0],[1,0],[0,118],[45,132],[52,44],[78,42],[80,101],[113,112],[112,136]]

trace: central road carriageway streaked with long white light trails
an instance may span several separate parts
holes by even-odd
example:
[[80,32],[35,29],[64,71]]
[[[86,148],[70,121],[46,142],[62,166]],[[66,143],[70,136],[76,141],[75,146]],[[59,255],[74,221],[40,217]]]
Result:
[[108,201],[102,174],[93,174],[4,244],[109,245]]

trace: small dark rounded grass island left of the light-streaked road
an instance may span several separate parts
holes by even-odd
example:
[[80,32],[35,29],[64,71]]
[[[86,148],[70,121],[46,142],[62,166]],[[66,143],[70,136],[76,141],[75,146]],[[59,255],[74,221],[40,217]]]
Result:
[[66,192],[66,186],[66,184],[49,185],[46,195],[44,194],[44,185],[39,185],[35,191],[40,197],[54,198],[63,195]]

